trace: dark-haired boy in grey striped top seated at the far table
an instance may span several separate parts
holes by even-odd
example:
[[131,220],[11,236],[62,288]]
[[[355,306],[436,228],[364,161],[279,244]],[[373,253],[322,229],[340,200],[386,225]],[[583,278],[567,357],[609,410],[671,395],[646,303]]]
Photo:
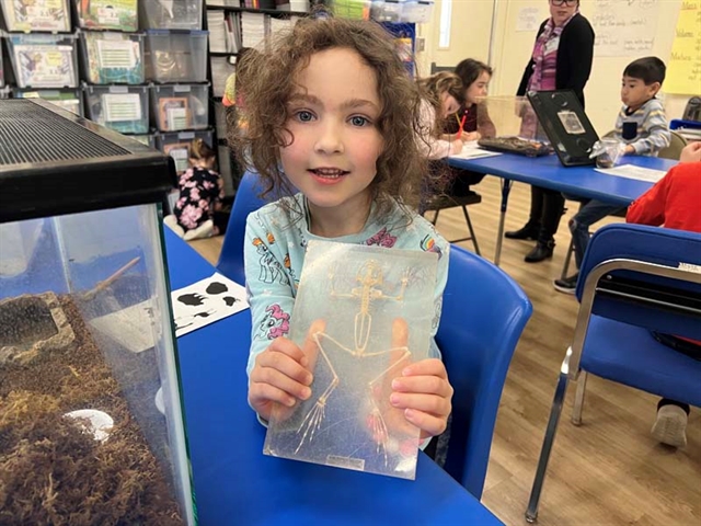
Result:
[[[659,150],[669,146],[670,135],[665,108],[655,98],[665,80],[665,62],[657,57],[639,58],[623,70],[623,107],[616,119],[614,137],[625,144],[625,155],[657,157]],[[567,199],[584,203],[579,211],[570,219],[574,258],[579,268],[589,243],[589,227],[622,208],[597,199],[563,195]],[[578,277],[577,272],[564,279],[555,279],[553,285],[561,293],[574,294]]]

